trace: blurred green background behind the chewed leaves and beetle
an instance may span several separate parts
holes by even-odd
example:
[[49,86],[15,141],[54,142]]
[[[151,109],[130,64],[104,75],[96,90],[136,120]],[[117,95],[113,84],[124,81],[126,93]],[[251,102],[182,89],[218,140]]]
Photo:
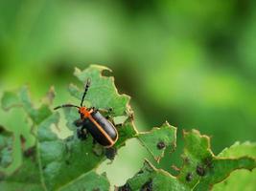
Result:
[[[29,84],[38,101],[51,85],[55,104],[70,98],[74,67],[113,70],[132,97],[139,130],[168,120],[180,165],[182,130],[212,137],[215,154],[236,140],[256,140],[256,5],[234,1],[0,1],[0,92]],[[149,154],[129,140],[111,166],[122,184]],[[120,176],[122,173],[123,176]]]

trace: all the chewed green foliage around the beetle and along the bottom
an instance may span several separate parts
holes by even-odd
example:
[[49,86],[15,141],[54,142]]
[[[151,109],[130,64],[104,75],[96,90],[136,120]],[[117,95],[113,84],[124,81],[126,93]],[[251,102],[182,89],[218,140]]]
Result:
[[[139,133],[133,123],[129,96],[118,94],[114,78],[103,75],[105,71],[111,72],[97,65],[83,71],[76,69],[75,76],[82,86],[71,84],[69,93],[79,103],[83,83],[88,77],[91,79],[85,104],[105,110],[112,108],[110,119],[113,119],[119,133],[115,149],[124,146],[128,138],[138,138],[156,161],[164,157],[166,148],[174,152],[176,128],[166,122],[150,132]],[[52,110],[54,97],[55,92],[51,88],[40,105],[35,105],[27,87],[2,96],[5,112],[1,112],[5,117],[1,121],[0,136],[1,188],[7,191],[109,190],[106,175],[96,173],[97,167],[106,159],[107,149],[93,143],[91,137],[85,140],[77,137],[74,121],[79,115],[74,108],[63,109],[66,126],[73,133],[67,138],[60,138],[57,132],[64,127],[59,126],[61,113]],[[215,156],[210,150],[209,138],[201,136],[196,130],[184,132],[184,142],[183,166],[177,177],[156,169],[147,160],[133,178],[117,189],[207,190],[225,180],[236,169],[252,170],[256,167],[256,160],[252,158],[255,157],[255,147],[252,144],[233,146]],[[239,150],[243,152],[236,155]]]

